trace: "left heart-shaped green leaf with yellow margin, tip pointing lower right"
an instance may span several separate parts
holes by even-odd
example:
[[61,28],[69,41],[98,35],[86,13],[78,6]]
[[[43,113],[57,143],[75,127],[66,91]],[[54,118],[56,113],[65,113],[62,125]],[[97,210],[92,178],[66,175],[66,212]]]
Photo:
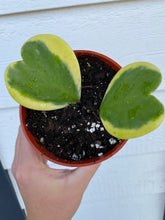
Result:
[[23,60],[10,64],[6,86],[21,105],[35,110],[62,108],[80,99],[81,75],[70,46],[54,35],[37,35],[22,47]]

